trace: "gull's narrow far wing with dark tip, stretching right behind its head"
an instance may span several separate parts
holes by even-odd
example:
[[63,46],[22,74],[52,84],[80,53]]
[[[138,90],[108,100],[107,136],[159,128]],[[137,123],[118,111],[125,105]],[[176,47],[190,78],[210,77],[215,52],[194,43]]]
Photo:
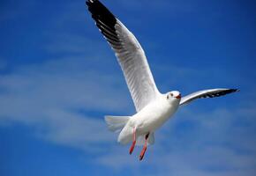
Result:
[[179,105],[186,105],[190,103],[194,99],[203,99],[203,98],[215,98],[215,97],[221,97],[223,95],[232,93],[232,92],[238,92],[238,89],[208,89],[204,91],[199,92],[193,92],[192,94],[184,96],[181,100]]

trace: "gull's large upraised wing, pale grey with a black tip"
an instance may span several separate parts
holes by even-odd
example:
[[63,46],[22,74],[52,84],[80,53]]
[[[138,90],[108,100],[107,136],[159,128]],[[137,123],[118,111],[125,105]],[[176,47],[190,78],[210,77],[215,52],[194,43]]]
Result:
[[134,35],[98,0],[87,0],[96,26],[115,51],[137,112],[159,93],[146,55]]

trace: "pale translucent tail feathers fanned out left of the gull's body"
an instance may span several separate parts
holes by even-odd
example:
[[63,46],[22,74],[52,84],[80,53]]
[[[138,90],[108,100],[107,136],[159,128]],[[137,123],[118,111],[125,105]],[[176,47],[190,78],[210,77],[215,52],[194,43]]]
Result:
[[105,116],[105,121],[108,125],[110,131],[118,132],[124,128],[127,121],[129,121],[130,116]]

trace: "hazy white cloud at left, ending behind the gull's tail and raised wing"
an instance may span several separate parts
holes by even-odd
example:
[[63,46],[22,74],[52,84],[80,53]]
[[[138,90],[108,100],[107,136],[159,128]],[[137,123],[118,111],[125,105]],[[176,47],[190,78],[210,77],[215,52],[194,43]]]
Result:
[[116,140],[106,133],[102,116],[84,112],[129,113],[123,77],[82,65],[87,61],[67,58],[21,66],[1,76],[0,123],[30,125],[42,138],[83,150]]

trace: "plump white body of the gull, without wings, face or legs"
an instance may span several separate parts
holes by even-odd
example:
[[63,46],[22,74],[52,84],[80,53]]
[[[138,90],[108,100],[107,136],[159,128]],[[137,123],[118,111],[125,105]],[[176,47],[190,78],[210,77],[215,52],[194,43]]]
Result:
[[160,94],[139,113],[132,115],[120,132],[118,142],[123,144],[131,142],[134,129],[136,129],[136,136],[145,136],[148,132],[154,133],[175,114],[179,101],[180,99],[166,99],[165,94]]

